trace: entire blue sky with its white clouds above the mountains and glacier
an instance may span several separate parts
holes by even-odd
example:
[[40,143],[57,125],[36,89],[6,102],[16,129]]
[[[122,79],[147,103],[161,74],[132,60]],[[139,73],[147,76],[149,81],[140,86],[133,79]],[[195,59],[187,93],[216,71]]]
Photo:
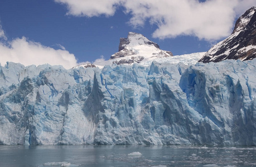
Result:
[[0,63],[108,60],[137,32],[173,55],[205,52],[233,31],[255,0],[1,0]]

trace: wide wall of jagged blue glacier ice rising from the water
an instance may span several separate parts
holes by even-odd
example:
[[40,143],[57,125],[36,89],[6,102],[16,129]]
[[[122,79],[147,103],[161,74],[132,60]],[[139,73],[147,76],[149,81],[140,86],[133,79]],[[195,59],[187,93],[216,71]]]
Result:
[[256,60],[0,66],[2,145],[256,145]]

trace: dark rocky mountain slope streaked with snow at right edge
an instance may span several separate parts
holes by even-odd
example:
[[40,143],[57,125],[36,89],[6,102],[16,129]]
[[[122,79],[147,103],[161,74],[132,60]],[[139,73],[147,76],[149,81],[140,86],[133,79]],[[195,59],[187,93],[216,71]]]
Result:
[[252,60],[256,57],[256,7],[248,9],[235,23],[233,33],[213,46],[199,62],[227,59]]

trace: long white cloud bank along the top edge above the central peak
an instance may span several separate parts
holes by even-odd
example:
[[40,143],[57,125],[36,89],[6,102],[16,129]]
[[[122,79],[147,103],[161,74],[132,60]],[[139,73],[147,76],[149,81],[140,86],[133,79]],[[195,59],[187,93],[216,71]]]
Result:
[[196,36],[204,40],[219,40],[230,35],[236,16],[255,5],[255,0],[55,0],[68,7],[74,16],[113,16],[118,6],[131,14],[133,27],[146,21],[158,26],[155,38],[180,35]]

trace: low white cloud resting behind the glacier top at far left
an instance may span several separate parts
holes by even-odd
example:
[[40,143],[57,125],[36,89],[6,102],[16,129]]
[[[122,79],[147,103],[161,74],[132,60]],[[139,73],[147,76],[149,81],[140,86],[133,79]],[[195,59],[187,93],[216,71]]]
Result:
[[54,50],[37,42],[28,41],[25,37],[17,38],[5,45],[0,43],[0,63],[7,61],[28,65],[62,65],[72,68],[77,65],[75,56],[66,50]]

